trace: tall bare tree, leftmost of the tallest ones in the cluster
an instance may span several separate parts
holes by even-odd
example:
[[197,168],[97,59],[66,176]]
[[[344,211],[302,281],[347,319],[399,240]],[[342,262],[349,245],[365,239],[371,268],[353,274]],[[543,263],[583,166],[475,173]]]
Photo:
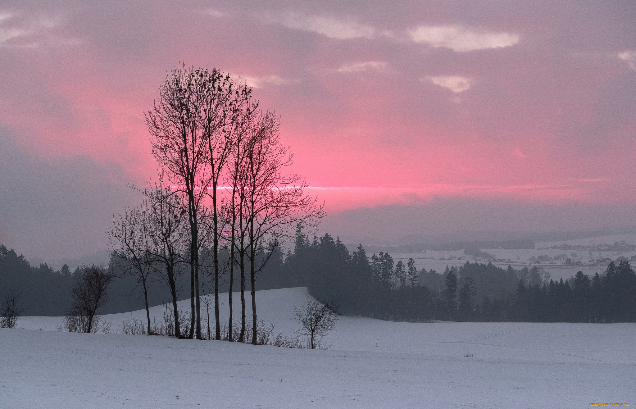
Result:
[[196,329],[201,339],[201,312],[198,277],[198,214],[207,192],[210,177],[206,171],[209,146],[200,127],[197,69],[175,67],[160,86],[160,96],[144,113],[152,135],[155,160],[174,177],[174,193],[184,197],[190,226],[190,301],[189,338]]

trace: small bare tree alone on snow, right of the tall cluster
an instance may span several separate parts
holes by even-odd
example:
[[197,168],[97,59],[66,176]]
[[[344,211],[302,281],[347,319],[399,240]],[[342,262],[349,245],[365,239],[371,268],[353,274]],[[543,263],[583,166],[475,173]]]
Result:
[[337,310],[338,304],[333,297],[322,301],[313,297],[307,298],[302,307],[294,306],[293,314],[296,316],[296,321],[303,326],[296,333],[307,335],[311,349],[315,349],[319,338],[327,336],[329,331],[340,322]]

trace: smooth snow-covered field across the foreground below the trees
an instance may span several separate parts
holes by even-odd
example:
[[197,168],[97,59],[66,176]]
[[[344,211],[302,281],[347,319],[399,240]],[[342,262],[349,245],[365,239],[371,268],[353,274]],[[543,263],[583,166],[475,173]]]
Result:
[[[291,334],[291,310],[306,290],[259,291],[257,297],[260,317]],[[153,313],[160,319],[162,307]],[[115,324],[122,315],[109,318]],[[636,324],[342,317],[327,340],[331,349],[301,350],[37,330],[60,321],[24,317],[18,325],[31,330],[0,329],[0,407],[582,408],[636,402]]]

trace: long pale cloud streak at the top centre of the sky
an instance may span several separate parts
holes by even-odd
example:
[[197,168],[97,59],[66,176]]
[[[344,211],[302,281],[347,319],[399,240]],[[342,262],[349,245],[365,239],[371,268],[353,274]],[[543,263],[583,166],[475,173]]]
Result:
[[317,32],[329,38],[371,38],[375,34],[374,27],[361,24],[354,18],[338,19],[328,16],[305,15],[293,11],[266,13],[260,17],[266,23],[282,24],[290,29]]

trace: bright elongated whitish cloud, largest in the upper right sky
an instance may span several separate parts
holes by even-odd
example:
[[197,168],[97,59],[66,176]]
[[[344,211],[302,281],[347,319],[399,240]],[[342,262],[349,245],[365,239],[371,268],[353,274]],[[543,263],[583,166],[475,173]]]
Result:
[[479,32],[459,25],[420,25],[409,32],[416,43],[450,48],[457,52],[502,48],[519,42],[518,34],[509,32]]

